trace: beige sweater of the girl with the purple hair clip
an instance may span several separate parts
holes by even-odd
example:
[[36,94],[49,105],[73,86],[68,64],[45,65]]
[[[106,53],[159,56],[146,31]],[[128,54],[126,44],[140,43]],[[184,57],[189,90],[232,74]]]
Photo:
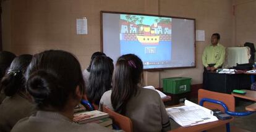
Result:
[[[113,110],[111,90],[103,94],[100,110],[106,105]],[[126,105],[126,116],[132,120],[134,131],[168,131],[171,130],[169,118],[160,95],[152,90],[140,88],[137,95]]]

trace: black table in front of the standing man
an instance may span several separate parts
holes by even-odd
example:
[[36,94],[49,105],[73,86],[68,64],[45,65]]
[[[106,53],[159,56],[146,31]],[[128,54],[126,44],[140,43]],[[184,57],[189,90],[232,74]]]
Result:
[[235,74],[222,74],[216,72],[205,72],[203,79],[203,89],[218,93],[231,94],[234,89],[249,89],[250,75],[242,72]]

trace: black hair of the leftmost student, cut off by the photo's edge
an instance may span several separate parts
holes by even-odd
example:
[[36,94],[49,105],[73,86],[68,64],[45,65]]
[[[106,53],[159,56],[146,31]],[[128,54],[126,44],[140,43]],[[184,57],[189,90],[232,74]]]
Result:
[[0,79],[6,73],[6,69],[11,65],[12,60],[15,58],[15,54],[9,51],[0,52]]

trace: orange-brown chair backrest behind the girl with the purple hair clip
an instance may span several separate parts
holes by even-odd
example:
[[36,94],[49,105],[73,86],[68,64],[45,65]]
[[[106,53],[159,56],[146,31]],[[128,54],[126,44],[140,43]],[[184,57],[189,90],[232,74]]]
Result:
[[109,116],[113,119],[114,124],[118,125],[119,128],[126,132],[132,132],[132,121],[130,118],[116,113],[106,106],[103,106],[103,112],[108,113]]

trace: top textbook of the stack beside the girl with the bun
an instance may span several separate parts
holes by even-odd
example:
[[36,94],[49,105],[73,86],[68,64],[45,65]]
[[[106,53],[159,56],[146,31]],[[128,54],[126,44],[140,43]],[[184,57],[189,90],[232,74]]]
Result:
[[93,122],[95,120],[100,120],[102,118],[109,117],[108,113],[100,112],[99,110],[93,110],[90,112],[80,112],[74,114],[74,122],[77,123],[88,123]]

